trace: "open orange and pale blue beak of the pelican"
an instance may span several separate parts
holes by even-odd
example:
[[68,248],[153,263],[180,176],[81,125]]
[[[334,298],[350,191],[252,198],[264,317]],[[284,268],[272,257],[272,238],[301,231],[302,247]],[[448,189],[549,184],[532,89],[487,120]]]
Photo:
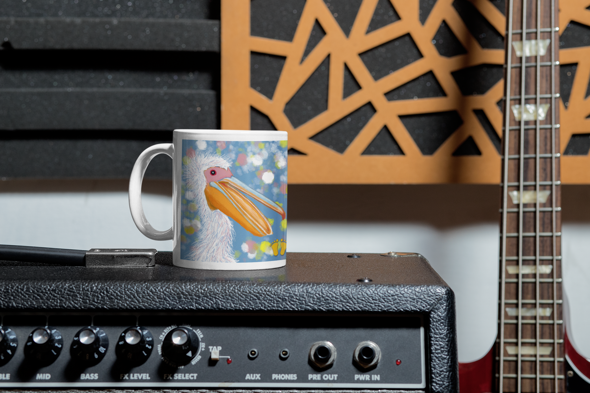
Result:
[[282,207],[234,176],[211,181],[205,187],[205,197],[211,210],[219,210],[231,217],[254,236],[272,235],[273,229],[267,217],[245,195],[274,210],[281,215],[282,219],[285,218]]

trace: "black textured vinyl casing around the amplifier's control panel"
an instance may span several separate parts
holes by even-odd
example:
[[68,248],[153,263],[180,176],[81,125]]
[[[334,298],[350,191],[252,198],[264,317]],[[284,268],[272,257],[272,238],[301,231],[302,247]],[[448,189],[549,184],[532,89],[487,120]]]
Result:
[[0,309],[422,313],[430,391],[458,391],[454,294],[424,257],[288,253],[285,267],[247,271],[183,269],[171,257],[147,268],[3,266]]

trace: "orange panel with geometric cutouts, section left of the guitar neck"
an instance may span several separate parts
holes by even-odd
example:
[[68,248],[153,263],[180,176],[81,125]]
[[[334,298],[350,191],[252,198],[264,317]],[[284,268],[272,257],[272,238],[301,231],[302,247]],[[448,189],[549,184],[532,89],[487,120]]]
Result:
[[222,0],[221,19],[221,126],[288,131],[290,183],[500,182],[490,0]]

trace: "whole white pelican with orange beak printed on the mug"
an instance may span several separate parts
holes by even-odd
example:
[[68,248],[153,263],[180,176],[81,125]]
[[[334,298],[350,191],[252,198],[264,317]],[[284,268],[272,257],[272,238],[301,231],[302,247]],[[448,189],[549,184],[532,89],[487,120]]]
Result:
[[198,240],[187,259],[207,262],[238,262],[234,258],[235,231],[231,217],[254,236],[273,234],[268,219],[250,199],[260,202],[285,218],[282,207],[235,178],[230,162],[217,154],[198,151],[188,157],[184,177],[186,186],[195,194],[201,219]]

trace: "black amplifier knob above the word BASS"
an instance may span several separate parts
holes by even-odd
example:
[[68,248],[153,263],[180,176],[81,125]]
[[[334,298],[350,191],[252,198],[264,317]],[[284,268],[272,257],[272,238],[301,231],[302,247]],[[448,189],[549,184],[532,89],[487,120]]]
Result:
[[96,326],[80,329],[74,336],[70,347],[70,354],[75,361],[86,366],[98,364],[109,349],[109,337]]

